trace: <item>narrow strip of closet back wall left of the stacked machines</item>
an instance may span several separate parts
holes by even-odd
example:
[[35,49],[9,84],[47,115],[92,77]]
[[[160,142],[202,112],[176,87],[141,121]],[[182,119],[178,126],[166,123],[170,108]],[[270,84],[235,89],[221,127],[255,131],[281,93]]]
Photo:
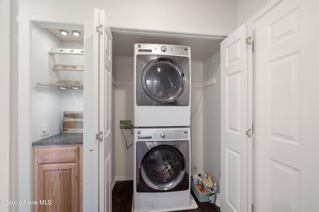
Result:
[[[133,145],[128,149],[124,137],[121,134],[120,120],[132,120],[133,112],[133,57],[115,58],[115,121],[113,139],[115,139],[115,179],[133,180]],[[131,130],[123,130],[129,146],[133,143]]]

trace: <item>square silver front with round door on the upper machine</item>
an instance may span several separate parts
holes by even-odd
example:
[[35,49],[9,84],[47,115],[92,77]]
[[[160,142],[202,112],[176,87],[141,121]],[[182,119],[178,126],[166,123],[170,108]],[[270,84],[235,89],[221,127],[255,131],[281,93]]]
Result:
[[137,105],[189,105],[187,57],[137,55]]

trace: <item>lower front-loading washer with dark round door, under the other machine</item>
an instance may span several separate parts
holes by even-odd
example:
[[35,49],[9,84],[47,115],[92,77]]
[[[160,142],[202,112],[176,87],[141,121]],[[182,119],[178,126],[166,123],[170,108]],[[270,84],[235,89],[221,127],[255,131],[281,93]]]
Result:
[[189,207],[190,128],[134,129],[134,212]]

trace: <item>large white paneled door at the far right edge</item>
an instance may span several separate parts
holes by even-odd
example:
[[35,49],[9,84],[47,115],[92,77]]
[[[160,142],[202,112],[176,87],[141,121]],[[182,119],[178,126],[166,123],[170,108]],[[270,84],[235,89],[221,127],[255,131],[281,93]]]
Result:
[[318,0],[253,24],[256,212],[319,211]]

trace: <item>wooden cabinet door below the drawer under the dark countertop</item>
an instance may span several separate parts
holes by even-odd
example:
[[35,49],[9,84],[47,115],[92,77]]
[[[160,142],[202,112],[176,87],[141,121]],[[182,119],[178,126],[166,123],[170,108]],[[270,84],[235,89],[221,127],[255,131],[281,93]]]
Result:
[[39,165],[39,212],[78,212],[78,163]]

